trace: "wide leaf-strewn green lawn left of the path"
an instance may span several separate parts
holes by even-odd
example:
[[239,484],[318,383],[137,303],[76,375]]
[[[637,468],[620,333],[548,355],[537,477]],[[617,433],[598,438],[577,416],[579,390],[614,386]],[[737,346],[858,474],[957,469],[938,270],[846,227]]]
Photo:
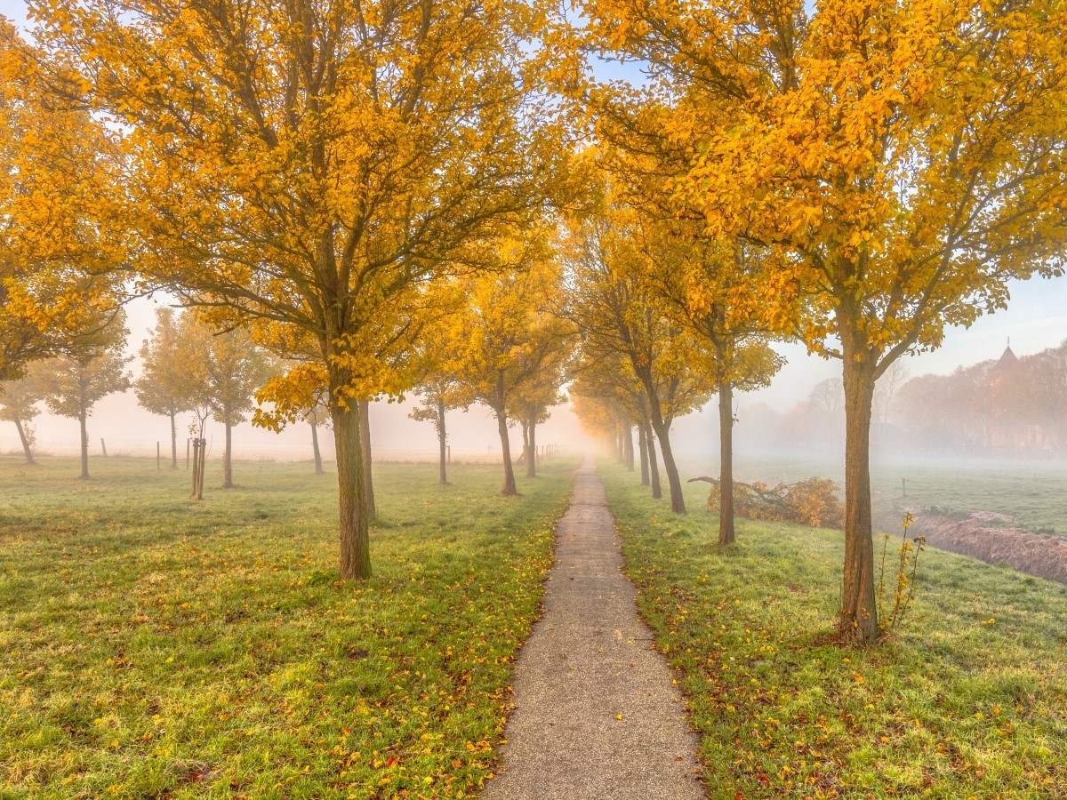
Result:
[[463,797],[496,768],[576,464],[383,465],[375,577],[336,479],[0,458],[0,797]]

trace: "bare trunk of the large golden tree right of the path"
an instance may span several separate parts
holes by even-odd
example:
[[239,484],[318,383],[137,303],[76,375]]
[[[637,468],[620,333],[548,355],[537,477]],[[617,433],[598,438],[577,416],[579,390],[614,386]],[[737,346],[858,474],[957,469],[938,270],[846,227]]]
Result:
[[[846,641],[878,637],[871,530],[871,404],[874,367],[843,342],[845,384],[845,572],[839,630]],[[850,352],[851,351],[851,352]]]

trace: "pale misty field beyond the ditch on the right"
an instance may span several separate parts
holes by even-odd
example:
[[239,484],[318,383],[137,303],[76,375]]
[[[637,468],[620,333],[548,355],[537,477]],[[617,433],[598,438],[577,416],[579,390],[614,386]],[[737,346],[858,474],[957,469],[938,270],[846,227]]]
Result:
[[[700,473],[694,473],[699,475]],[[717,474],[715,471],[712,473]],[[738,480],[774,485],[812,476],[844,482],[840,459],[739,459]],[[902,482],[904,481],[904,482]],[[875,462],[871,482],[879,507],[906,505],[952,511],[992,511],[1015,526],[1067,537],[1067,464],[1056,461],[917,459]],[[896,517],[893,513],[882,516]],[[1002,525],[1002,524],[1001,524]]]

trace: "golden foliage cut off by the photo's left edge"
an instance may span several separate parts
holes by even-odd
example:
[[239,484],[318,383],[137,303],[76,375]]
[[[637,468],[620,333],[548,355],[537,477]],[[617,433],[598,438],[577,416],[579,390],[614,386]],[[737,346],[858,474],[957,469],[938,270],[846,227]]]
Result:
[[95,333],[121,294],[110,148],[100,122],[55,91],[70,82],[0,17],[0,381]]

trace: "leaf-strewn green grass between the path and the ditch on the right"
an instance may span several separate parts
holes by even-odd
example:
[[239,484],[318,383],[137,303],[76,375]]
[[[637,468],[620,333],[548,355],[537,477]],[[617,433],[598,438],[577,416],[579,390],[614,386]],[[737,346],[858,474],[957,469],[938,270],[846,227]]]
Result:
[[706,485],[676,517],[601,470],[710,797],[1067,797],[1067,587],[929,549],[906,629],[842,649],[840,531],[738,521],[718,550]]

